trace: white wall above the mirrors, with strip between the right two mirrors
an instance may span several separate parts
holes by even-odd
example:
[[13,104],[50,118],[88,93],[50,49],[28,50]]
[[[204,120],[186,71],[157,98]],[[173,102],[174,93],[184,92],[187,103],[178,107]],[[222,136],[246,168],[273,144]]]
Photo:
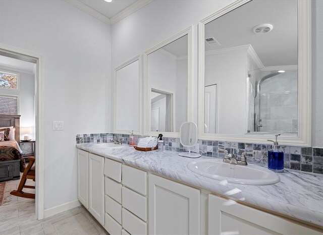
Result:
[[112,26],[112,68],[193,25],[193,110],[197,123],[197,24],[233,2],[153,1]]

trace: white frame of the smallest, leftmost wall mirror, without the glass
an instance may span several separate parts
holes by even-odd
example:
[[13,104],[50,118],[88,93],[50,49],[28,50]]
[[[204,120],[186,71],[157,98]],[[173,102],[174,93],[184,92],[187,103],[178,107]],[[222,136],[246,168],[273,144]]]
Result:
[[138,91],[138,102],[139,102],[139,109],[138,109],[138,132],[134,132],[133,134],[134,135],[141,135],[142,133],[142,130],[141,130],[141,111],[142,111],[142,98],[141,98],[141,94],[142,94],[142,72],[141,72],[141,68],[142,68],[142,64],[141,64],[141,54],[133,57],[131,60],[123,63],[122,65],[116,67],[114,69],[114,101],[113,101],[113,133],[117,133],[117,134],[128,134],[129,135],[129,132],[131,132],[131,130],[118,130],[117,129],[117,72],[118,70],[121,70],[122,68],[125,68],[126,66],[134,63],[135,61],[138,61],[139,62],[139,65],[138,65],[138,83],[139,83],[139,91]]

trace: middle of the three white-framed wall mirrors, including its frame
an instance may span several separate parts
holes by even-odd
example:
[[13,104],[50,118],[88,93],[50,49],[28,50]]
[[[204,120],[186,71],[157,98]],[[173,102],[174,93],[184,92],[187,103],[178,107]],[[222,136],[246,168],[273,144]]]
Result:
[[191,120],[192,27],[147,50],[144,61],[144,135],[179,137]]

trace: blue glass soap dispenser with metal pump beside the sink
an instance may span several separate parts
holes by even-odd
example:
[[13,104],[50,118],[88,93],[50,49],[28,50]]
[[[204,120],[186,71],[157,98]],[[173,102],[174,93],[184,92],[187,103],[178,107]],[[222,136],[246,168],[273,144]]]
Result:
[[274,142],[273,148],[268,151],[268,169],[271,169],[275,172],[284,171],[284,152],[279,149],[277,137],[281,134],[275,135],[276,141],[267,140]]

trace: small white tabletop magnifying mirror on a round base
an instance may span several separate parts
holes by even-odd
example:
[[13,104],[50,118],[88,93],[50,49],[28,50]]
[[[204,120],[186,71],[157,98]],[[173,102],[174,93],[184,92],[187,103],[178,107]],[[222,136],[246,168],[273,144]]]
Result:
[[188,148],[188,152],[182,152],[178,155],[183,157],[197,158],[201,154],[191,152],[191,148],[197,143],[197,126],[193,122],[182,123],[180,127],[180,142],[184,147]]

